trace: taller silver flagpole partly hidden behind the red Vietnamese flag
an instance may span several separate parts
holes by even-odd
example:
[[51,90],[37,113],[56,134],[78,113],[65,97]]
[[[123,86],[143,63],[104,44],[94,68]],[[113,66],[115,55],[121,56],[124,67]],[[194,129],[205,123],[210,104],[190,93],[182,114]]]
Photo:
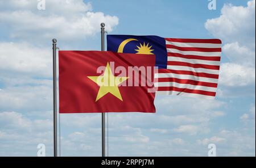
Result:
[[[105,23],[101,23],[101,51],[105,51]],[[105,157],[105,112],[101,114],[102,157]]]

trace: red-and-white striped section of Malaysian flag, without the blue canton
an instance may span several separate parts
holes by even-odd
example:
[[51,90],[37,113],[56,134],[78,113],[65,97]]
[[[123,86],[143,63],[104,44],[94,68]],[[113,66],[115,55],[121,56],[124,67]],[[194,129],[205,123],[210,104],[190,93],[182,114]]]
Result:
[[158,93],[216,96],[221,40],[166,38],[167,69],[155,74]]

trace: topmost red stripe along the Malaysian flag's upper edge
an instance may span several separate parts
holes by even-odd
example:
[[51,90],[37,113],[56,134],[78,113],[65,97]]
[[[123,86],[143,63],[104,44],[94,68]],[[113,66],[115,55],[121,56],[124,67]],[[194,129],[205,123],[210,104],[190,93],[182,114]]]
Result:
[[179,43],[212,43],[212,44],[221,44],[220,39],[174,39],[174,38],[165,38],[167,41],[179,42]]

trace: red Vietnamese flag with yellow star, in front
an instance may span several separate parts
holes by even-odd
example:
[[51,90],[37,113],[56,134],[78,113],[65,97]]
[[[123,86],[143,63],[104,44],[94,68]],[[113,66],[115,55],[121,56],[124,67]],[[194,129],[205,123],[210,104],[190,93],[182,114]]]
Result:
[[59,51],[59,112],[155,112],[154,65],[155,55]]

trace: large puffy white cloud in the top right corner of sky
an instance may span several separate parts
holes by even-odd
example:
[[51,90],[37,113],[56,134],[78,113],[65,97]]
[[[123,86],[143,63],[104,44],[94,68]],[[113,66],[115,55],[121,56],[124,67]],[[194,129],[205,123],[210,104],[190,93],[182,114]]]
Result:
[[249,1],[247,7],[225,4],[221,16],[208,19],[205,28],[228,43],[255,45],[255,0]]

